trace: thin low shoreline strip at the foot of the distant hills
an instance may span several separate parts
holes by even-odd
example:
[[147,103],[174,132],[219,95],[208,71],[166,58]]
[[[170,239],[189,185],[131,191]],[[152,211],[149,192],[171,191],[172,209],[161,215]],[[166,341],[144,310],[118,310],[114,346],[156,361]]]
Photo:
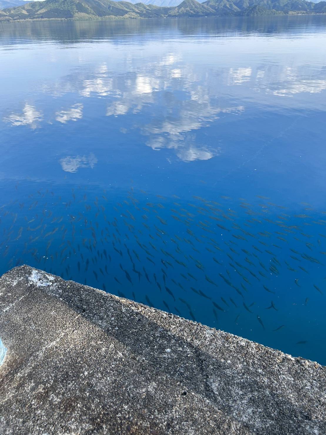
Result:
[[316,12],[316,13],[303,13],[302,11],[290,11],[290,13],[275,13],[270,15],[216,15],[216,16],[210,16],[210,17],[115,17],[113,15],[107,16],[107,17],[94,17],[90,18],[87,17],[85,19],[83,18],[26,18],[26,20],[1,20],[0,24],[12,24],[12,23],[33,23],[37,22],[40,23],[42,21],[64,21],[64,22],[81,22],[81,21],[121,21],[121,20],[183,20],[183,19],[193,19],[193,18],[258,18],[258,17],[293,17],[293,16],[313,16],[313,15],[325,15],[326,13],[322,12]]

